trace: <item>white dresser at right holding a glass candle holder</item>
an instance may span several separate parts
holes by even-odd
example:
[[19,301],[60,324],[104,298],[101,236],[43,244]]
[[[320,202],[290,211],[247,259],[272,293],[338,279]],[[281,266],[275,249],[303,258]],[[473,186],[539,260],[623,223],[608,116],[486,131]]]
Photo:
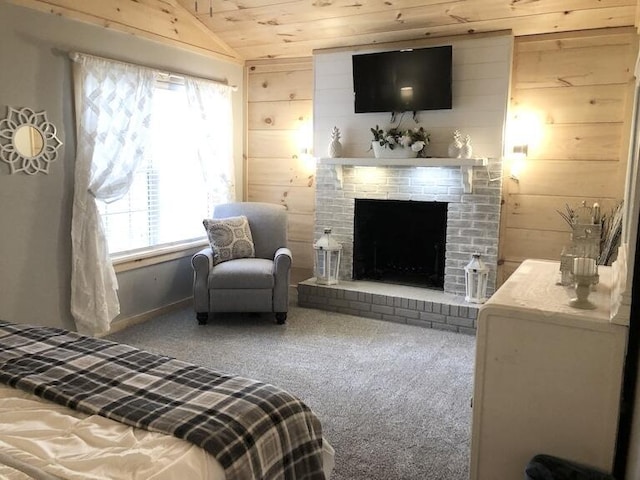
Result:
[[471,479],[524,477],[538,453],[611,472],[627,327],[610,322],[611,268],[568,305],[558,262],[526,260],[478,314]]

